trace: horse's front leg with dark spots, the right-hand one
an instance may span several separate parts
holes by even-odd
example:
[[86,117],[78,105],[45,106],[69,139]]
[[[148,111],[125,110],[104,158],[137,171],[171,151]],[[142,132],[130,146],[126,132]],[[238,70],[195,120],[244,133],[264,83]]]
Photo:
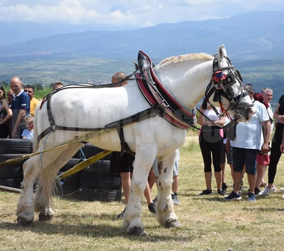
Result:
[[181,227],[178,217],[173,211],[172,181],[173,165],[178,157],[178,150],[164,158],[158,165],[159,177],[157,180],[158,200],[156,206],[157,221],[164,227]]

